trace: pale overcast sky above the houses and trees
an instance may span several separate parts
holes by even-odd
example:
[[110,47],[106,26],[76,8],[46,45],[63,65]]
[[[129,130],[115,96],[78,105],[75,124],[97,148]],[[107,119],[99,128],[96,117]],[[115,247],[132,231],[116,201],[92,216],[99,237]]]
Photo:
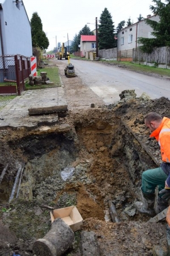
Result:
[[152,0],[23,0],[29,20],[37,12],[42,22],[42,30],[49,39],[48,51],[56,47],[57,43],[73,40],[75,34],[87,24],[91,30],[95,29],[95,18],[100,19],[106,7],[112,15],[114,28],[122,20],[138,21],[139,14],[144,18],[152,14],[150,5]]

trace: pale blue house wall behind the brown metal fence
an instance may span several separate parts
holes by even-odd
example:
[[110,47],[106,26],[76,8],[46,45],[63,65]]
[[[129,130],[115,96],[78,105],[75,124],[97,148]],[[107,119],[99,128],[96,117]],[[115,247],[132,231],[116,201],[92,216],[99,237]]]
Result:
[[32,56],[31,25],[22,0],[1,0],[0,39],[0,55]]

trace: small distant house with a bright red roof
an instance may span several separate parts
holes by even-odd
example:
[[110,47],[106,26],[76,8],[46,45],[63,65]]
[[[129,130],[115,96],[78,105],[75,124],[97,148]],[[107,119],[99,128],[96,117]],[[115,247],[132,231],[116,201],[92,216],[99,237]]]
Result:
[[96,36],[95,35],[81,35],[80,38],[80,52],[84,57],[86,52],[96,50]]

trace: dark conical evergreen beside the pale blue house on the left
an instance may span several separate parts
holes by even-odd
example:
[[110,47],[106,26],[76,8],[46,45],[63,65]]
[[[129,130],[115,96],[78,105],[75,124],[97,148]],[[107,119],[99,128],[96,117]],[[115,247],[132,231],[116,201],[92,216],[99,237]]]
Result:
[[32,47],[39,47],[40,49],[47,49],[49,46],[49,40],[42,30],[42,23],[37,13],[32,14],[31,18],[31,35],[32,35]]

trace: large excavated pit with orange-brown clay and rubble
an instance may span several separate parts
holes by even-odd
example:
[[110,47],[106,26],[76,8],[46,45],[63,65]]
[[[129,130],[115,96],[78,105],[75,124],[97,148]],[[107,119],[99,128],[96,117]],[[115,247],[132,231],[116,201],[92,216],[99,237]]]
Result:
[[[3,224],[32,241],[50,229],[46,205],[76,205],[83,220],[111,221],[109,200],[121,222],[147,221],[134,202],[140,199],[142,172],[159,163],[158,148],[154,141],[147,147],[148,108],[140,113],[138,106],[137,116],[131,103],[125,105],[69,113],[52,127],[1,130],[0,173],[9,163],[0,189]],[[19,195],[8,203],[19,163],[24,163]]]

